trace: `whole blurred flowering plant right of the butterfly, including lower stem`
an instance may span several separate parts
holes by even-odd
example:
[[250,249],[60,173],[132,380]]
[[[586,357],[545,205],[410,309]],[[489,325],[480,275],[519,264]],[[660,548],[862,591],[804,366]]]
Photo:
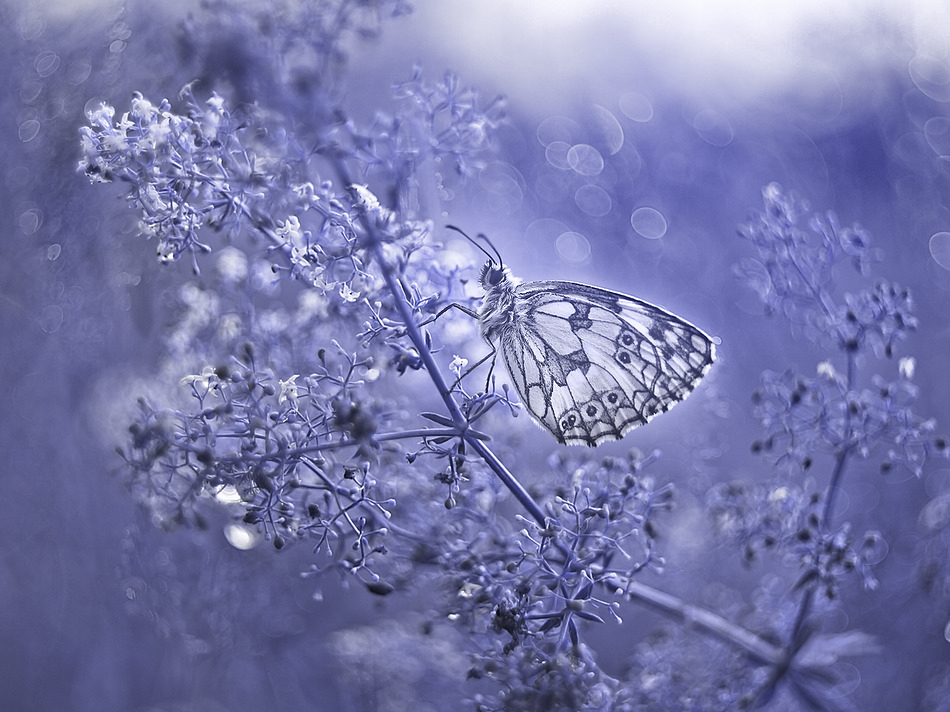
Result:
[[[912,357],[898,360],[896,378],[862,372],[874,357],[895,355],[898,343],[917,325],[909,292],[896,284],[878,281],[843,295],[836,289],[841,262],[850,261],[861,277],[869,271],[875,253],[867,232],[859,226],[842,228],[831,214],[814,216],[804,229],[799,227],[807,213],[804,203],[776,184],[763,196],[765,209],[739,231],[758,256],[740,265],[739,274],[768,313],[782,314],[831,355],[814,375],[762,374],[753,405],[764,434],[752,449],[780,466],[776,478],[720,485],[707,501],[716,528],[740,544],[746,562],[771,550],[799,570],[793,589],[798,610],[779,633],[787,641],[788,666],[776,668],[758,700],[768,699],[787,678],[800,698],[813,701],[830,690],[807,661],[812,640],[827,647],[822,654],[834,651],[835,656],[873,648],[859,631],[831,641],[811,638],[819,625],[812,620],[818,617],[816,601],[837,599],[852,573],[866,588],[876,588],[872,567],[887,552],[880,533],[858,535],[850,523],[835,522],[834,503],[846,473],[855,462],[874,458],[881,472],[902,466],[920,476],[929,458],[947,454],[947,444],[935,434],[934,421],[914,412],[918,388]],[[819,464],[830,466],[827,482],[815,480]]]

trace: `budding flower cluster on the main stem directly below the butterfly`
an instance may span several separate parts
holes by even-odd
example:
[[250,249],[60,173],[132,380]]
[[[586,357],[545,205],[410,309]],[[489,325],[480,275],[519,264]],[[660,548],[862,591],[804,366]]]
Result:
[[[548,503],[546,526],[523,520],[520,537],[498,557],[498,542],[468,546],[456,569],[454,617],[477,621],[490,612],[494,630],[509,638],[505,650],[536,647],[556,631],[556,651],[577,646],[577,624],[619,621],[616,600],[644,569],[662,570],[654,550],[657,515],[670,508],[670,486],[644,476],[655,456],[632,451],[599,465],[556,458],[549,465],[564,492]],[[568,484],[569,483],[569,484]],[[569,643],[568,643],[569,641]]]

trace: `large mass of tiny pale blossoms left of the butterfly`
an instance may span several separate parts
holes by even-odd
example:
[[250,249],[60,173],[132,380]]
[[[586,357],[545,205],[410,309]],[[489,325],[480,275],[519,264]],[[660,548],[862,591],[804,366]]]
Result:
[[[198,239],[204,228],[226,228],[232,242],[219,251],[215,288],[179,291],[163,370],[194,364],[180,385],[191,405],[141,402],[122,453],[133,488],[166,526],[200,522],[214,508],[239,510],[235,536],[253,541],[256,531],[278,548],[310,539],[333,567],[374,592],[391,590],[374,564],[393,548],[382,543],[396,506],[386,493],[441,459],[448,464],[435,485],[449,485],[454,501],[471,465],[451,417],[430,414],[444,427],[386,432],[405,411],[398,396],[383,395],[398,389],[379,381],[387,370],[432,369],[424,324],[462,288],[462,273],[441,265],[428,223],[385,208],[348,180],[345,163],[359,158],[337,142],[356,135],[352,125],[332,127],[315,154],[322,158],[311,164],[292,158],[301,152],[286,132],[279,142],[260,140],[270,119],[248,114],[239,122],[218,96],[204,107],[188,90],[183,97],[185,114],[141,95],[117,121],[102,106],[82,131],[85,172],[131,186],[129,202],[141,212],[143,232],[159,237],[163,262],[210,251]],[[487,139],[486,131],[479,141]],[[477,144],[467,144],[473,159]],[[434,138],[428,145],[441,144]],[[382,161],[377,178],[392,175],[397,160]],[[335,170],[345,188],[336,192],[318,167]],[[253,239],[260,236],[266,249]],[[280,299],[282,277],[307,287],[296,312]],[[458,392],[466,422],[507,402]],[[400,445],[419,439],[409,452]],[[413,504],[403,502],[400,512]]]

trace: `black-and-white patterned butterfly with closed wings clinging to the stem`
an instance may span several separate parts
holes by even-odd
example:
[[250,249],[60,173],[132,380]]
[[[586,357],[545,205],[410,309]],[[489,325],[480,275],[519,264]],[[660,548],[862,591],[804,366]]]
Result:
[[559,443],[619,440],[686,398],[715,360],[712,339],[660,307],[576,282],[522,283],[485,253],[479,331]]

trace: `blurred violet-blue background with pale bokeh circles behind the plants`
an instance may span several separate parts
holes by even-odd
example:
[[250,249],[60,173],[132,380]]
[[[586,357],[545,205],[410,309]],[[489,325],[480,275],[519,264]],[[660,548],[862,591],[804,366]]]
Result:
[[[434,651],[394,633],[389,649],[370,636],[374,664],[417,657],[421,668],[374,677],[361,667],[361,626],[415,630],[411,596],[381,602],[330,587],[316,604],[296,575],[306,547],[238,553],[220,523],[165,534],[123,490],[112,406],[154,368],[167,294],[188,275],[185,265],[159,270],[117,192],[76,173],[84,107],[104,99],[121,112],[133,90],[174,97],[202,73],[225,77],[235,95],[286,99],[253,65],[250,76],[228,73],[233,48],[209,38],[184,52],[175,43],[184,10],[136,5],[0,9],[0,708],[372,709],[360,696],[372,688],[394,704],[390,678],[404,675],[416,695],[407,704],[429,698],[439,709],[457,686],[419,670],[452,668],[458,646]],[[354,45],[351,114],[368,120],[388,105],[390,84],[420,61],[432,77],[458,72],[486,100],[507,94],[511,115],[497,161],[433,217],[489,234],[525,279],[632,293],[722,340],[710,393],[684,405],[683,420],[661,418],[611,450],[661,447],[662,471],[680,490],[659,585],[699,602],[783,571],[746,570],[734,552],[708,546],[701,485],[689,474],[690,448],[704,445],[719,452],[710,481],[766,477],[749,453],[758,374],[813,373],[826,357],[761,317],[733,274],[751,256],[736,225],[761,208],[767,183],[870,231],[883,257],[874,274],[915,297],[920,328],[899,355],[917,358],[917,411],[950,422],[950,25],[940,3],[802,3],[785,15],[742,3],[716,12],[685,2],[586,12],[418,5],[384,24],[379,42]],[[559,167],[556,140],[595,147],[604,168]],[[662,215],[664,234],[637,232],[640,208]],[[894,375],[893,363],[870,366]],[[704,403],[713,399],[724,415],[711,421]],[[551,449],[544,437],[539,452]],[[860,709],[931,709],[924,690],[950,669],[946,601],[922,591],[917,569],[918,514],[948,488],[941,461],[921,480],[868,465],[846,483],[839,519],[880,529],[891,550],[880,590],[844,592],[842,629],[883,646],[854,661]],[[217,625],[214,608],[225,619]],[[608,672],[623,669],[629,641],[653,622],[634,608],[625,617],[627,629],[590,631]]]

